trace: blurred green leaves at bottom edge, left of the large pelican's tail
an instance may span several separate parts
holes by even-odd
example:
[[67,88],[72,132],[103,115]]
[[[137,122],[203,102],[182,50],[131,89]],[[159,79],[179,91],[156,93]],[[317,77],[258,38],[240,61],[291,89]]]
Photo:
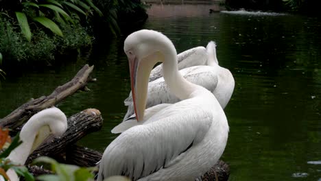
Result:
[[48,174],[43,176],[38,176],[37,180],[43,181],[87,181],[93,180],[94,175],[93,171],[95,171],[95,167],[91,168],[83,168],[75,165],[67,165],[58,163],[56,160],[48,157],[40,157],[34,160],[34,163],[47,163],[51,165],[51,171],[56,174]]

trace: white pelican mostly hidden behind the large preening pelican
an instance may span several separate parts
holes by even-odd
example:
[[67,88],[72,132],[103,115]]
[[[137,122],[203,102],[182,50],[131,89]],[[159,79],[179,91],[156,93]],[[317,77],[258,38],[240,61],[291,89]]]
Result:
[[[216,57],[216,45],[213,41],[211,41],[206,46],[206,58],[202,57],[204,53],[202,53],[202,48],[198,47],[198,58],[201,58],[202,61],[195,61],[202,64],[203,60],[206,60],[206,64],[208,66],[200,65],[187,67],[185,69],[180,70],[180,73],[187,79],[189,82],[193,84],[198,84],[210,90],[213,95],[215,95],[216,99],[221,104],[224,109],[230,100],[230,97],[233,94],[235,81],[232,73],[228,69],[220,67],[218,64],[218,60]],[[205,49],[204,49],[205,50]],[[191,51],[189,51],[191,52]],[[189,53],[191,54],[191,53]],[[195,55],[192,53],[191,55]],[[185,65],[190,64],[189,62],[193,62],[191,58],[195,58],[195,56],[189,56],[189,60],[182,61]],[[160,65],[153,69],[154,77],[160,77],[159,72],[161,71]],[[152,72],[153,72],[152,71]],[[150,78],[151,80],[151,78]],[[150,108],[152,106],[156,106],[157,104],[174,104],[180,99],[176,97],[173,93],[170,93],[163,77],[160,77],[148,84],[148,98],[146,108]],[[132,93],[128,96],[124,101],[125,105],[128,106],[128,110],[126,112],[123,121],[126,121],[132,114],[134,114],[134,104],[132,102]]]

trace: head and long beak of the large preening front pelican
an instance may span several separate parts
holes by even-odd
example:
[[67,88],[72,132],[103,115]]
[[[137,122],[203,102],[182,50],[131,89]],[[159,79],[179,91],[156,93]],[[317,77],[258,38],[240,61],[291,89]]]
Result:
[[132,97],[137,121],[142,121],[144,117],[150,72],[157,62],[165,60],[164,53],[167,49],[164,47],[175,49],[171,40],[165,35],[147,29],[130,34],[123,45],[130,65]]

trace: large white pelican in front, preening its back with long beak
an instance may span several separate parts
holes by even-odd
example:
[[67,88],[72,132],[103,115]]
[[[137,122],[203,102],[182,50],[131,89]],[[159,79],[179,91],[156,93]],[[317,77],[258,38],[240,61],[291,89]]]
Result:
[[[132,180],[195,180],[217,162],[228,139],[228,122],[215,96],[185,80],[176,49],[160,32],[140,30],[124,43],[130,64],[134,110],[139,125],[122,132],[105,149],[98,180],[123,175]],[[165,83],[182,101],[144,121],[147,84],[156,62]]]

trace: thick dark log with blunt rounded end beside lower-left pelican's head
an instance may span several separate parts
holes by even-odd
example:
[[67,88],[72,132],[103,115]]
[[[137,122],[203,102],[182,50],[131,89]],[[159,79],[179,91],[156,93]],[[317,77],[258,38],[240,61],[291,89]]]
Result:
[[51,141],[40,145],[28,158],[31,162],[38,156],[50,156],[58,158],[64,155],[67,147],[75,144],[86,134],[96,132],[102,128],[102,114],[97,109],[86,109],[74,114],[68,119],[68,129],[60,138],[53,138]]

